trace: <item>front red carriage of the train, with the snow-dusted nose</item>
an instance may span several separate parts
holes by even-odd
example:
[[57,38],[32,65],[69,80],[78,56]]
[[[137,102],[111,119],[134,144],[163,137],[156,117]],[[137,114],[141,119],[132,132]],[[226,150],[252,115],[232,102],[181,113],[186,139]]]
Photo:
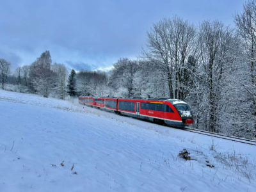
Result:
[[177,99],[118,99],[118,111],[175,127],[193,124],[188,104]]

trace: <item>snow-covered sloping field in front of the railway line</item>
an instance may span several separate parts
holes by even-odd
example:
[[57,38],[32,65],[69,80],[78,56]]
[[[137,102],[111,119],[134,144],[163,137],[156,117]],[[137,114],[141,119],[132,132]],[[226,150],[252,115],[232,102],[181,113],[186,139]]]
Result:
[[0,91],[0,191],[256,191],[255,180],[255,146]]

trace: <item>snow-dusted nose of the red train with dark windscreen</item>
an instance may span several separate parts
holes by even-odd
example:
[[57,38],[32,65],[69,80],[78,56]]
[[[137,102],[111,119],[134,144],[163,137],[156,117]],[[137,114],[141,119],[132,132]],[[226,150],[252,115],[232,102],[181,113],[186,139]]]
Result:
[[177,124],[177,127],[185,127],[187,125],[193,124],[191,108],[186,102],[179,99],[168,99],[168,102],[172,103],[182,120],[182,124]]

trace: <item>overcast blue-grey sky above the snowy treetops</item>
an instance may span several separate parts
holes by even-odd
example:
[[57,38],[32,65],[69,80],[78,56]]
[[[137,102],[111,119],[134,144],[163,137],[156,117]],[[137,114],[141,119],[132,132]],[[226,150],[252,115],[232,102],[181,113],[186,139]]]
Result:
[[198,25],[220,20],[234,26],[242,0],[1,1],[0,58],[13,68],[30,65],[46,50],[52,62],[76,70],[108,68],[136,58],[152,24],[177,15]]

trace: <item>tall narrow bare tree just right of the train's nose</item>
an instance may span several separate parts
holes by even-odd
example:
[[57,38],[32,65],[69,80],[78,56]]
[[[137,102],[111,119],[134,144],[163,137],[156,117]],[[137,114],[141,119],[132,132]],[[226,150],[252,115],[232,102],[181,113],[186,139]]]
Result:
[[205,125],[209,131],[218,132],[217,125],[220,111],[223,107],[221,94],[223,93],[225,72],[234,63],[232,48],[234,38],[232,30],[223,26],[221,22],[205,21],[200,26],[200,63],[204,72],[203,80],[206,85],[205,94],[208,95],[208,109],[204,111]]

